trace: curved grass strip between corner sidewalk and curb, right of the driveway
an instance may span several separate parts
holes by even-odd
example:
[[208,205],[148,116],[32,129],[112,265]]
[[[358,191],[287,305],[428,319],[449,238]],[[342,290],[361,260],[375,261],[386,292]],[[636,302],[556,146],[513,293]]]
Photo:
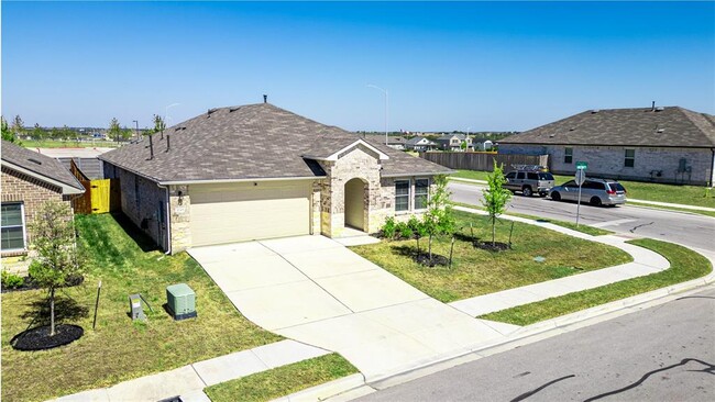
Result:
[[676,244],[651,238],[641,238],[628,243],[661,254],[670,261],[670,268],[646,277],[628,279],[595,289],[583,290],[536,303],[497,311],[482,315],[480,319],[501,321],[516,325],[529,325],[539,321],[696,279],[713,270],[707,258]]

